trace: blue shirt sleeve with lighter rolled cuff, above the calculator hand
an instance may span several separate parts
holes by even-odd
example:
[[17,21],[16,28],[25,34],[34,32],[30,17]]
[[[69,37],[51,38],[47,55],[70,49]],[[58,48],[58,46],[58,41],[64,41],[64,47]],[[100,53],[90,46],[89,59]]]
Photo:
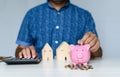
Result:
[[30,21],[31,21],[31,14],[30,14],[30,12],[27,12],[22,21],[22,24],[21,24],[21,27],[19,30],[19,34],[18,34],[18,37],[16,40],[16,44],[22,45],[22,46],[33,45],[33,38],[30,35],[30,29],[29,29]]

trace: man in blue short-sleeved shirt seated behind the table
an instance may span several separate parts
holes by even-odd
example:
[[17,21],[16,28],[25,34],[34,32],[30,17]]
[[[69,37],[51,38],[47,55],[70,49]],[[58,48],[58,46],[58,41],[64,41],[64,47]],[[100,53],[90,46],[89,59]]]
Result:
[[16,43],[16,57],[41,57],[41,49],[49,43],[56,48],[69,44],[89,44],[92,57],[101,57],[102,50],[91,14],[69,0],[48,0],[30,9],[24,17]]

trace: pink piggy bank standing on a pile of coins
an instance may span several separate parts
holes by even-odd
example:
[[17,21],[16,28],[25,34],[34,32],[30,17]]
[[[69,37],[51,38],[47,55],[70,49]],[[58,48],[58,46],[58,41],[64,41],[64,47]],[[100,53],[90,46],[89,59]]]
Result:
[[90,60],[90,45],[70,45],[70,58],[74,67],[87,66]]

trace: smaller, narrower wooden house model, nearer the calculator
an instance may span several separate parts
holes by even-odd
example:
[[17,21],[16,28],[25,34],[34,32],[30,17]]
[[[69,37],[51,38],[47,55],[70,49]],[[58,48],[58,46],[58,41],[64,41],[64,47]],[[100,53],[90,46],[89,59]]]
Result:
[[42,49],[42,60],[51,61],[53,60],[53,50],[48,43]]

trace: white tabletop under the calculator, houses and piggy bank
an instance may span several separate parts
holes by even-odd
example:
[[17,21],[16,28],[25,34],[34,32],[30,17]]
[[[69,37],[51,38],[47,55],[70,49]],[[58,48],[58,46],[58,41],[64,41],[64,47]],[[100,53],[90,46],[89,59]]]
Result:
[[6,65],[0,63],[0,77],[120,77],[120,60],[102,58],[91,60],[94,69],[71,70],[66,62],[41,62],[35,65]]

